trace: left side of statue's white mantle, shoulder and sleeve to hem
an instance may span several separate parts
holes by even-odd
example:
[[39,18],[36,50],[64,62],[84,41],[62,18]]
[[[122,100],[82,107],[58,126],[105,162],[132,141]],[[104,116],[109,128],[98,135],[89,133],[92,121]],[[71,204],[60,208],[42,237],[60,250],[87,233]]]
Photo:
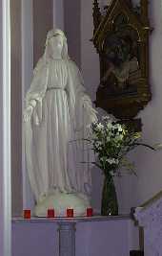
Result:
[[39,195],[38,190],[38,178],[37,174],[34,172],[34,155],[32,153],[33,149],[33,126],[40,125],[42,121],[42,101],[45,97],[47,85],[48,85],[48,78],[49,78],[49,69],[48,64],[44,61],[43,58],[40,58],[38,61],[34,71],[33,71],[33,78],[30,84],[30,90],[27,92],[26,95],[26,108],[28,106],[32,106],[32,115],[31,119],[28,122],[24,122],[24,135],[25,135],[25,151],[26,151],[26,162],[27,168],[29,170],[30,176],[30,186],[32,192],[34,193],[34,197],[38,200],[41,195]]

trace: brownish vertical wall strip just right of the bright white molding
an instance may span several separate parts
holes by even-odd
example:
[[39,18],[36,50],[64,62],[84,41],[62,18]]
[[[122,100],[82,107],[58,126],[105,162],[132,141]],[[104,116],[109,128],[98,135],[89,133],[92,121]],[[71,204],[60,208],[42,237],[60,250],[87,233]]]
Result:
[[21,0],[10,0],[12,214],[22,212]]

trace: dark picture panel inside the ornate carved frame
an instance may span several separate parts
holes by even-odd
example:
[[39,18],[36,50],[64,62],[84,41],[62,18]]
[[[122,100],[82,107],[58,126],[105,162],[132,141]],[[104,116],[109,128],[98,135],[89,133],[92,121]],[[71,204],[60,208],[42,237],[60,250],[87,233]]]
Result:
[[100,88],[107,96],[134,95],[141,78],[136,32],[128,28],[108,34],[103,46]]

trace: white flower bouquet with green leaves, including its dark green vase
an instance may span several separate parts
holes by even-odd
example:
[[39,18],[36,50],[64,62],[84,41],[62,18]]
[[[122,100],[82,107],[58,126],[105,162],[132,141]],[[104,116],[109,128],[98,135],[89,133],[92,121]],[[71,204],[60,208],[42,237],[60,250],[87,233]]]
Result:
[[148,147],[140,141],[140,132],[129,130],[110,117],[103,117],[102,122],[91,124],[90,142],[96,155],[94,165],[99,167],[104,174],[104,185],[102,191],[102,215],[117,215],[118,203],[113,183],[113,176],[119,175],[119,168],[126,167],[135,175],[132,163],[126,158],[126,154],[139,145]]

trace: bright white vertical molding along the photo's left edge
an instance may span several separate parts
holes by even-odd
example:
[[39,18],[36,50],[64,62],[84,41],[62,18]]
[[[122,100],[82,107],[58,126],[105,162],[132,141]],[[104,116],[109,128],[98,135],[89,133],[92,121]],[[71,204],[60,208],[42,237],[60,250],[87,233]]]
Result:
[[10,256],[10,0],[0,0],[0,255]]

